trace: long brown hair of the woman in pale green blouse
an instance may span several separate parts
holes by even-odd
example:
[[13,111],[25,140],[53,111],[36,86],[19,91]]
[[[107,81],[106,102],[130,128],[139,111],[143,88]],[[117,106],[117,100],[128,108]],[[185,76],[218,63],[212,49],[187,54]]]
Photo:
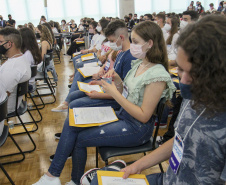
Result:
[[168,71],[168,56],[161,28],[156,23],[144,21],[137,24],[133,31],[144,41],[153,41],[153,46],[147,51],[146,58],[152,63],[162,64]]

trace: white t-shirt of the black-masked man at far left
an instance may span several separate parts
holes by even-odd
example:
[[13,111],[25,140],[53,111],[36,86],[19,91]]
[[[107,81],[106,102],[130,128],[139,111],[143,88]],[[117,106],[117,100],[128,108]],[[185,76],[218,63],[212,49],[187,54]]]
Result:
[[[31,78],[31,67],[27,58],[22,55],[17,58],[8,59],[0,67],[0,82],[5,87],[5,92],[9,92],[8,113],[15,111],[17,85]],[[22,97],[18,99],[20,105]]]

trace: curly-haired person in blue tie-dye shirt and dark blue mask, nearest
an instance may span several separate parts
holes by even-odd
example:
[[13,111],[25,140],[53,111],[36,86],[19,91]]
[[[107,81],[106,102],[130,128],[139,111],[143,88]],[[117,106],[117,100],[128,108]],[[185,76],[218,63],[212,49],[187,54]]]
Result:
[[[124,179],[169,160],[166,173],[146,176],[150,185],[225,185],[226,42],[221,39],[226,37],[225,22],[225,17],[206,16],[181,33],[177,64],[184,100],[176,135],[122,169]],[[90,170],[86,175],[94,172]],[[97,184],[94,177],[91,185]]]

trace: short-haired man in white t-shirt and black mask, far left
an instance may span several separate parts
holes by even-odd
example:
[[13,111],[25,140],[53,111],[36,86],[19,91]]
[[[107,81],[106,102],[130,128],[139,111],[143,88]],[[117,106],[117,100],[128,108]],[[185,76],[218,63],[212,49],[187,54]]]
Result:
[[[31,78],[30,63],[21,52],[22,39],[15,28],[0,30],[0,54],[7,57],[6,62],[0,67],[0,82],[7,92],[8,113],[15,111],[17,85]],[[18,98],[20,105],[22,97]]]

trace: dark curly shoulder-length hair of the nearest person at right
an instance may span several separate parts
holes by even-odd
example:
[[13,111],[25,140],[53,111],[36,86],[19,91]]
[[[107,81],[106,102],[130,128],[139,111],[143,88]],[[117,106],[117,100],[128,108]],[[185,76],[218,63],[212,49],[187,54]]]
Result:
[[226,17],[209,15],[188,26],[177,40],[192,64],[192,107],[226,110]]

